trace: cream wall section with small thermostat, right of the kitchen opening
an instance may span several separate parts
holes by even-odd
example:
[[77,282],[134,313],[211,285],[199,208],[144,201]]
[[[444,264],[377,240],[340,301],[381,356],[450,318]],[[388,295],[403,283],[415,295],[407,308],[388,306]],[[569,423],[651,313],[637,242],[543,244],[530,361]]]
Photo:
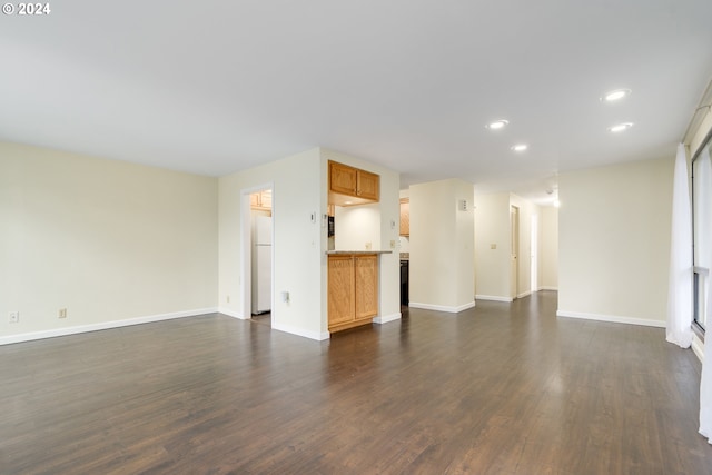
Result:
[[[459,179],[411,187],[412,307],[459,311],[474,306],[473,185]],[[457,209],[466,200],[469,209]]]

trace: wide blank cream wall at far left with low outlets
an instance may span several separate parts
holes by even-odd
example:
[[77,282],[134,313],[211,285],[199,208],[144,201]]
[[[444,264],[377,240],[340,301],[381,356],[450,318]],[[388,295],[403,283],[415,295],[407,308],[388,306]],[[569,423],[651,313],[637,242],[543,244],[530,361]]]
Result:
[[0,343],[217,307],[215,178],[0,144]]

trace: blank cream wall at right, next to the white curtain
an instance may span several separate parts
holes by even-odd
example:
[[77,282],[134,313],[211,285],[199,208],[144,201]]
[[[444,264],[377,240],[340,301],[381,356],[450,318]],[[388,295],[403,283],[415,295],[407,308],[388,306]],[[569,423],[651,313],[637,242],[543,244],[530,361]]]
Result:
[[664,326],[673,158],[561,174],[558,315]]

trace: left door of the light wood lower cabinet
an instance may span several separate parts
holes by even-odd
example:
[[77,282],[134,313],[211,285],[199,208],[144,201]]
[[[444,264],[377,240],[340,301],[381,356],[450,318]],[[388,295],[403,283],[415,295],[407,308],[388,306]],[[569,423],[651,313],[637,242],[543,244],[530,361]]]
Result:
[[329,326],[354,320],[354,258],[329,256],[328,319]]

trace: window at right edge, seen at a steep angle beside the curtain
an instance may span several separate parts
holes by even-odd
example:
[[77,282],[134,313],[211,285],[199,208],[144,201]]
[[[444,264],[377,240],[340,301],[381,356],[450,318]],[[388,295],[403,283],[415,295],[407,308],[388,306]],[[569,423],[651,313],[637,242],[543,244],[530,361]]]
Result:
[[692,222],[693,222],[693,297],[694,321],[706,328],[708,287],[712,280],[712,162],[710,141],[692,160]]

